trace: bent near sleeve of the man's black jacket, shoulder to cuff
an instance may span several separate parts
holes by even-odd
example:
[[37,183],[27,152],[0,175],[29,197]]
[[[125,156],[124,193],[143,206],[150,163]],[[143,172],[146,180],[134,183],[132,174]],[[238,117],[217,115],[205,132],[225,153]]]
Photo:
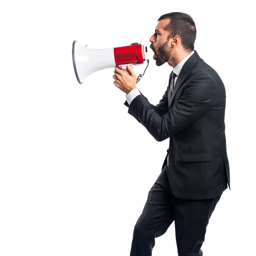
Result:
[[163,141],[210,111],[215,105],[216,89],[212,76],[201,74],[187,82],[183,95],[163,116],[142,95],[131,102],[128,113],[145,126],[157,141]]

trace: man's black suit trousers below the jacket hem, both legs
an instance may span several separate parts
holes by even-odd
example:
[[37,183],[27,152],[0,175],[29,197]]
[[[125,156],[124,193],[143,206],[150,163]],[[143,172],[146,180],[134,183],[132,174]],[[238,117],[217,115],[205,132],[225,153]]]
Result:
[[173,221],[178,256],[202,256],[201,246],[209,218],[221,195],[203,200],[176,198],[165,165],[149,190],[142,214],[135,224],[130,256],[151,256],[155,238],[166,233]]

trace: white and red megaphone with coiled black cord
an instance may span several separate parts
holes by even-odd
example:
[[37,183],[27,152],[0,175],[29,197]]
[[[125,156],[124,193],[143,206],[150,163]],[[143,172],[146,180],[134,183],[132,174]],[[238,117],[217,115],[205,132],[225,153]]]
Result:
[[73,41],[72,57],[79,84],[83,84],[90,74],[98,70],[111,67],[121,67],[126,70],[128,64],[140,65],[145,60],[149,62],[148,47],[139,43],[108,49],[90,49],[87,45],[84,47],[77,41]]

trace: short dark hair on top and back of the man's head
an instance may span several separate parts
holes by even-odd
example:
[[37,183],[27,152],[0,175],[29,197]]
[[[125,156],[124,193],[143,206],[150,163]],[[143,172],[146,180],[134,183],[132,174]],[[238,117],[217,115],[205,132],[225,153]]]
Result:
[[194,50],[196,27],[192,17],[183,12],[170,12],[162,15],[157,21],[167,18],[170,19],[169,24],[164,28],[169,32],[167,40],[179,35],[183,48],[185,50]]

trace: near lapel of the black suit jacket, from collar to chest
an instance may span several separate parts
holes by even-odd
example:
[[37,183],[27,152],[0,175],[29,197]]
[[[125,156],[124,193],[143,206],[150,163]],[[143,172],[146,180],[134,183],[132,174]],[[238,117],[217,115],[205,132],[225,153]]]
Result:
[[[177,80],[176,80],[176,83],[175,83],[175,86],[174,86],[174,89],[172,92],[170,90],[170,84],[171,84],[171,80],[172,80],[172,73],[171,73],[171,76],[169,79],[169,90],[168,90],[168,92],[169,92],[169,94],[168,94],[169,108],[172,105],[172,102],[175,98],[177,91],[180,90],[180,87],[183,85],[186,77],[189,74],[189,71],[192,69],[192,67],[195,65],[196,61],[198,61],[199,58],[200,57],[199,57],[198,53],[195,51],[194,54],[192,54],[192,56],[185,62],[182,69],[180,70],[180,74],[177,77]],[[172,95],[171,95],[171,93],[172,93]]]

